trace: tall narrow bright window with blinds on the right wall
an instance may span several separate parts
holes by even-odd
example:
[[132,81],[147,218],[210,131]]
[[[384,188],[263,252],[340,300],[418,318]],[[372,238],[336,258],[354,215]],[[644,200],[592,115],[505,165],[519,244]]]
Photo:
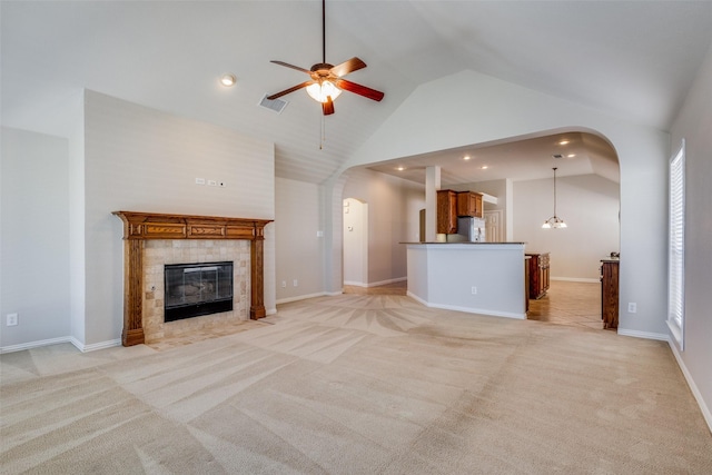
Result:
[[685,142],[670,160],[670,236],[668,265],[668,326],[684,349],[684,264],[685,264]]

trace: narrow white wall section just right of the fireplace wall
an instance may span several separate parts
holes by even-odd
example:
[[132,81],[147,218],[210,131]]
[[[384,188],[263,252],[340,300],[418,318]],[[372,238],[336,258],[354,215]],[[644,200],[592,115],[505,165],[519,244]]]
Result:
[[320,187],[285,178],[277,178],[275,185],[277,303],[322,295],[324,238],[317,236],[324,229]]

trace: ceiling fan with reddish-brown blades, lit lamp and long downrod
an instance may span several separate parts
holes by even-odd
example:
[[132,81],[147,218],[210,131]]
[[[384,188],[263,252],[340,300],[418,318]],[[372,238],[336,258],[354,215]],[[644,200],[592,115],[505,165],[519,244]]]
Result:
[[376,101],[379,101],[384,97],[384,93],[380,91],[344,79],[344,76],[349,72],[354,72],[366,67],[366,63],[360,59],[354,57],[336,66],[326,62],[326,0],[322,0],[322,62],[317,62],[312,67],[312,69],[304,69],[284,61],[273,60],[270,62],[306,72],[312,79],[289,89],[285,89],[284,91],[267,96],[267,99],[269,100],[275,100],[281,96],[306,88],[307,93],[313,99],[322,102],[322,110],[325,116],[328,116],[334,113],[334,99],[342,93],[342,90],[354,92]]

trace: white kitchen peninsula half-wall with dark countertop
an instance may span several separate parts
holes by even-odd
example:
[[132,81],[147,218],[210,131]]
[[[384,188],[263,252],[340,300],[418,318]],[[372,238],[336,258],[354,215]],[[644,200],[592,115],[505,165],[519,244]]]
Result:
[[402,243],[407,295],[427,307],[526,318],[525,243]]

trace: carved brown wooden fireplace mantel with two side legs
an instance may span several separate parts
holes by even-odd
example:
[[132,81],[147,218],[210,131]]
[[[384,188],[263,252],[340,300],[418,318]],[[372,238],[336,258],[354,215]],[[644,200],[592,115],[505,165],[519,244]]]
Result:
[[271,219],[113,211],[123,221],[123,346],[144,335],[144,241],[147,239],[245,239],[250,241],[251,319],[265,311],[265,226]]

